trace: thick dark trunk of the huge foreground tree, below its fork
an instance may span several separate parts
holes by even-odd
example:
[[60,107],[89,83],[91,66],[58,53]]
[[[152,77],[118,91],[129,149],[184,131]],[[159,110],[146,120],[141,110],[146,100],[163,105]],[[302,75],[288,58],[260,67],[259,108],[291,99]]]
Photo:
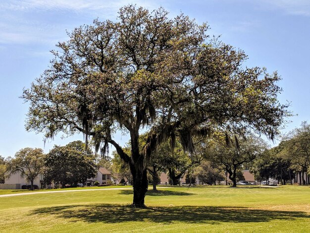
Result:
[[132,205],[139,208],[144,208],[144,198],[148,191],[148,175],[147,170],[140,171],[133,165],[130,166],[133,177],[134,198]]

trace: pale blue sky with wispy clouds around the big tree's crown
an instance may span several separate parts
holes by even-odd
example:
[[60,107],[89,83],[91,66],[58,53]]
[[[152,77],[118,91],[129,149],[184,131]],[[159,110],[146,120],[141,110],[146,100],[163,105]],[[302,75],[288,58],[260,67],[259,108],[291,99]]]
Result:
[[[245,51],[247,66],[265,66],[282,77],[281,103],[291,102],[283,133],[310,117],[310,1],[309,0],[5,0],[0,1],[0,155],[13,156],[24,147],[48,152],[54,144],[83,140],[61,138],[44,146],[43,135],[26,132],[28,105],[18,97],[49,65],[50,50],[71,31],[93,19],[115,21],[119,7],[134,3],[150,10],[164,7],[207,22],[210,35]],[[125,142],[126,136],[116,135]],[[271,143],[272,144],[272,143]]]

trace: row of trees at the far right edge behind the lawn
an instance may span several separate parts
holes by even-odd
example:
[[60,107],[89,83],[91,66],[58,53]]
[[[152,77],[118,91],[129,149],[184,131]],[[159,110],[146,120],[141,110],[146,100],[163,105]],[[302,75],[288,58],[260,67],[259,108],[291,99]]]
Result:
[[261,180],[274,178],[281,184],[310,184],[309,123],[302,122],[299,128],[284,135],[279,145],[266,150],[252,168]]

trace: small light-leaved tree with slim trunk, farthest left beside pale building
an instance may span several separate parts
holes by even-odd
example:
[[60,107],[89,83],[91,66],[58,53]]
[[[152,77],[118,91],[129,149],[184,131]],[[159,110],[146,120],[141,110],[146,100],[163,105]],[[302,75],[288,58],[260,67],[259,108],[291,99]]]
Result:
[[45,154],[40,148],[24,148],[16,152],[14,158],[9,158],[6,164],[9,175],[20,172],[31,183],[30,189],[33,190],[33,181],[38,175],[44,172]]

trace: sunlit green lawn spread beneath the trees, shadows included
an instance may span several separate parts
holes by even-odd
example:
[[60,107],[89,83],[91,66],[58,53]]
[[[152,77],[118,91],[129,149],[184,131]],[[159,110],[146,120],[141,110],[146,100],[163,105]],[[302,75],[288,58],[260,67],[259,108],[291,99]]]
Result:
[[167,187],[0,197],[0,232],[310,232],[310,186]]

